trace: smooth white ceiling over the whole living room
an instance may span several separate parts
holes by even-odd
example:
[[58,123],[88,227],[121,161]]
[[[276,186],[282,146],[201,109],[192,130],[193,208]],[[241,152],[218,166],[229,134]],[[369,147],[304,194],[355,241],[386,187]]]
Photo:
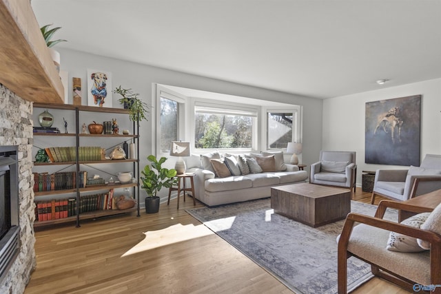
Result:
[[[302,96],[441,78],[441,0],[32,0],[70,48]],[[389,79],[379,86],[376,80]]]

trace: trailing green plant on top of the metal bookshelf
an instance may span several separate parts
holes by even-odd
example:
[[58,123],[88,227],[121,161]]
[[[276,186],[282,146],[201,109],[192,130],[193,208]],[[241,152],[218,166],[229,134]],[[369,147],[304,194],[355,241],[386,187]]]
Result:
[[116,87],[113,92],[123,96],[123,98],[119,99],[119,103],[124,104],[124,108],[129,110],[130,120],[137,121],[138,123],[143,119],[147,120],[146,114],[148,113],[149,105],[138,98],[138,93],[132,92],[132,89],[124,89],[121,85]]

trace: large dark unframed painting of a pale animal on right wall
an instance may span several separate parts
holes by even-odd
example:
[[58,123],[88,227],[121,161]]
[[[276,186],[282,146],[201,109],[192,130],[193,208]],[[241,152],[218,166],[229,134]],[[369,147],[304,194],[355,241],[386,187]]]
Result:
[[366,103],[365,162],[420,166],[421,95]]

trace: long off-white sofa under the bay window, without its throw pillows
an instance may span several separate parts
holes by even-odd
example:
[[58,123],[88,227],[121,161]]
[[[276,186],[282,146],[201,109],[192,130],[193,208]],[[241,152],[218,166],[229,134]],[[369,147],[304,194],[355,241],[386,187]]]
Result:
[[[196,199],[209,207],[243,202],[271,196],[271,187],[305,182],[307,180],[307,171],[300,171],[297,165],[285,164],[281,152],[263,153],[266,156],[268,154],[276,154],[276,157],[278,157],[278,168],[276,169],[285,170],[240,174],[220,178],[216,176],[216,171],[207,166],[209,165],[207,158],[199,155],[185,158],[187,173],[196,174],[194,177]],[[251,157],[253,156],[259,156],[259,154],[251,154]],[[280,156],[282,162],[280,162]],[[223,159],[223,154],[220,154],[220,159]]]

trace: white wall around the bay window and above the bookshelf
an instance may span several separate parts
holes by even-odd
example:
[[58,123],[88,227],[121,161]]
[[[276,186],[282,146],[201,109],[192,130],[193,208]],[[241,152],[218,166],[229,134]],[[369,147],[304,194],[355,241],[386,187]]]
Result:
[[[293,94],[265,90],[258,87],[250,87],[236,83],[219,81],[213,78],[185,74],[165,70],[158,67],[141,65],[110,59],[103,56],[87,54],[84,52],[59,49],[61,53],[61,70],[69,74],[69,103],[72,103],[72,77],[81,78],[81,89],[83,92],[83,105],[87,105],[87,70],[105,70],[112,72],[112,87],[122,85],[123,88],[132,88],[134,92],[141,94],[140,98],[152,104],[152,83],[187,87],[196,90],[218,92],[236,96],[256,98],[260,100],[276,101],[280,103],[291,103],[303,107],[303,154],[302,163],[310,165],[318,159],[318,153],[322,145],[322,100],[305,98]],[[122,107],[118,102],[119,95],[113,95],[113,107]],[[80,122],[82,123],[82,122]],[[152,134],[152,123],[150,121],[141,123],[141,169],[147,164],[147,156],[152,152],[154,134]],[[144,193],[144,192],[143,192]],[[141,195],[141,198],[143,195]]]

